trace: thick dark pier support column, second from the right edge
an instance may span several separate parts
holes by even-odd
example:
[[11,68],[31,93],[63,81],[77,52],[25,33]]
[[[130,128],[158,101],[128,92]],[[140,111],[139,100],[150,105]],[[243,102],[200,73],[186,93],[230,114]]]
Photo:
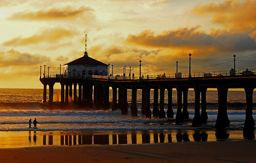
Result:
[[217,130],[223,130],[230,123],[230,121],[228,120],[228,114],[227,114],[228,88],[223,84],[217,84],[217,90],[218,90],[218,114],[217,114],[215,128]]

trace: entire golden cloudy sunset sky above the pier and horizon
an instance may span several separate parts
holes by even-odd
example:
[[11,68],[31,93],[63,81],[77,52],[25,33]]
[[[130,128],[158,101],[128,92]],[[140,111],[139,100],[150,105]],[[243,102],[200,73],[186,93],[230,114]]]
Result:
[[[256,53],[256,0],[1,0],[0,24],[0,88],[43,88],[40,66],[59,74],[82,57],[86,31],[88,55],[114,75],[139,75],[139,60],[144,75],[175,73],[176,61],[188,73],[189,53],[191,72],[230,70],[209,60]],[[254,57],[236,69],[255,68]]]

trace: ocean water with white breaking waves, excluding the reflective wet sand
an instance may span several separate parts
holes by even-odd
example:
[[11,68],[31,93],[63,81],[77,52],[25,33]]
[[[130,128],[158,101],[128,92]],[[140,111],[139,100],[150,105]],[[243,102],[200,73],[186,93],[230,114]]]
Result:
[[[153,108],[153,92],[150,91],[150,108]],[[95,111],[79,108],[70,102],[69,107],[60,109],[60,89],[54,89],[53,108],[49,109],[48,104],[42,103],[43,89],[0,89],[0,131],[28,131],[28,120],[39,122],[37,131],[58,131],[58,130],[214,130],[218,110],[218,92],[207,91],[206,110],[208,120],[206,124],[192,127],[194,117],[194,91],[188,91],[188,112],[189,119],[183,123],[176,124],[175,115],[177,110],[177,92],[172,91],[172,109],[174,118],[158,119],[152,117],[147,119],[141,115],[141,90],[137,91],[138,117],[132,117],[131,94],[128,89],[128,115],[121,115],[121,110],[111,111],[111,105],[107,111]],[[110,104],[112,100],[112,90],[110,89]],[[47,99],[48,99],[47,89]],[[117,96],[118,97],[118,96]],[[164,110],[167,111],[167,90],[165,91]],[[256,95],[253,94],[253,99]],[[245,120],[245,92],[228,91],[227,97],[228,118],[230,126],[227,130],[242,130]],[[253,103],[255,106],[255,101]],[[256,113],[253,112],[255,119]],[[145,125],[146,122],[146,125]]]

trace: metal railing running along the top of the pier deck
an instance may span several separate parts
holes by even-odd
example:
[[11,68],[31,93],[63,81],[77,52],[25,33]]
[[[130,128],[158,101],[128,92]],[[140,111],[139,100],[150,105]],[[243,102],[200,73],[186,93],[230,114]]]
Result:
[[[141,80],[148,79],[164,79],[164,78],[188,78],[189,73],[175,73],[175,74],[159,74],[159,75],[143,75]],[[212,76],[237,76],[237,75],[256,75],[256,69],[248,70],[227,70],[227,71],[207,71],[191,73],[191,77],[212,77]],[[95,79],[110,79],[110,80],[139,80],[140,76],[100,76],[100,75],[71,75],[65,76],[63,74],[44,75],[42,78],[95,78]]]

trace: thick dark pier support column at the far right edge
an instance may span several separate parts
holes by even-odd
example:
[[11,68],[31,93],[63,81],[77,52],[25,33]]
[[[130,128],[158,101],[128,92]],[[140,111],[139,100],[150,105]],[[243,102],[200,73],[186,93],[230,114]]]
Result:
[[252,117],[252,93],[253,93],[253,87],[249,84],[245,85],[245,96],[246,96],[246,110],[245,110],[245,122],[244,122],[244,129],[243,129],[243,135],[244,138],[252,139],[255,138],[254,136],[254,119]]

